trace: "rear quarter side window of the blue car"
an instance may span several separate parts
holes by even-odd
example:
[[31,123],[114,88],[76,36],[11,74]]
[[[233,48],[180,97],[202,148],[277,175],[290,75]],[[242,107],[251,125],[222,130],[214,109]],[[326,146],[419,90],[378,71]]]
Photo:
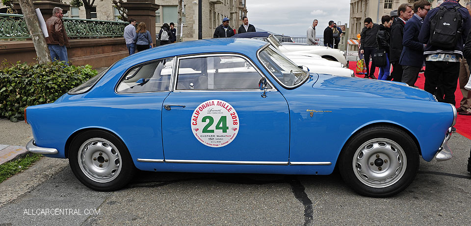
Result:
[[169,91],[173,59],[165,58],[132,68],[119,83],[118,92]]

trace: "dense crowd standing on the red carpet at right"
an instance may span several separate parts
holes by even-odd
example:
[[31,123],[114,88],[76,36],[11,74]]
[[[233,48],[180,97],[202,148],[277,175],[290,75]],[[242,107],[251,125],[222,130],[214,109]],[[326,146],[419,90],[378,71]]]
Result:
[[[471,115],[471,92],[464,88],[470,77],[467,59],[471,58],[471,38],[468,40],[471,3],[463,7],[458,1],[439,1],[433,9],[427,0],[416,1],[414,5],[404,3],[391,15],[383,16],[381,24],[366,18],[359,51],[366,66],[370,56],[375,57],[371,67],[366,67],[365,78],[376,79],[374,71],[381,64],[378,79],[415,86],[425,66],[424,90],[440,102],[455,105],[454,92],[459,80],[463,100],[457,111]],[[375,60],[378,53],[385,53],[385,65]]]

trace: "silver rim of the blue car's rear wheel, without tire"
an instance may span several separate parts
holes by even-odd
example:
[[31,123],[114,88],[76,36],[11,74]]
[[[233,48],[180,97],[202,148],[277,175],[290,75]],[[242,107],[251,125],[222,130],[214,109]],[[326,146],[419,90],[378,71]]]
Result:
[[111,142],[91,138],[78,150],[78,165],[89,179],[105,183],[113,181],[121,172],[121,155]]

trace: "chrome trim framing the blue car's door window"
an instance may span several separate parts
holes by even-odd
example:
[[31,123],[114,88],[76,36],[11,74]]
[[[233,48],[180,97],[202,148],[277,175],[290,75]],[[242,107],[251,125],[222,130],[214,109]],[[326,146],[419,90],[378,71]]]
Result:
[[191,59],[191,58],[201,58],[201,57],[209,57],[209,56],[235,56],[235,57],[241,57],[242,59],[246,60],[253,68],[255,68],[255,70],[259,73],[259,75],[263,78],[266,79],[266,82],[271,86],[271,89],[267,89],[266,91],[278,91],[276,90],[275,86],[273,86],[273,84],[270,82],[270,80],[265,76],[264,73],[262,73],[262,70],[260,70],[259,67],[257,67],[254,62],[246,57],[245,55],[242,55],[242,54],[237,54],[237,53],[202,53],[202,54],[192,54],[192,55],[185,55],[185,56],[180,56],[180,57],[177,57],[177,60],[176,60],[176,66],[175,66],[175,70],[174,70],[174,83],[171,84],[172,88],[172,92],[201,92],[201,91],[217,91],[217,92],[221,92],[221,91],[231,91],[231,92],[234,92],[234,91],[261,91],[260,89],[240,89],[240,90],[194,90],[194,89],[186,89],[186,90],[177,90],[177,82],[178,82],[178,67],[180,65],[180,60],[184,60],[184,59]]

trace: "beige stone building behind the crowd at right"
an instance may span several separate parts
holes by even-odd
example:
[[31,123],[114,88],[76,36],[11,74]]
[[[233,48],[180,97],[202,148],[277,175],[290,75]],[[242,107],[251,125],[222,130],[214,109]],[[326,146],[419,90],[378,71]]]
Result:
[[[357,34],[362,32],[364,20],[371,18],[373,23],[381,23],[381,17],[390,15],[402,3],[414,5],[415,0],[350,0],[350,27],[348,37],[356,39]],[[466,1],[460,2],[463,6]],[[379,4],[378,4],[379,3]],[[437,0],[432,1],[432,8],[437,5]],[[358,50],[358,46],[351,46],[349,50]]]

